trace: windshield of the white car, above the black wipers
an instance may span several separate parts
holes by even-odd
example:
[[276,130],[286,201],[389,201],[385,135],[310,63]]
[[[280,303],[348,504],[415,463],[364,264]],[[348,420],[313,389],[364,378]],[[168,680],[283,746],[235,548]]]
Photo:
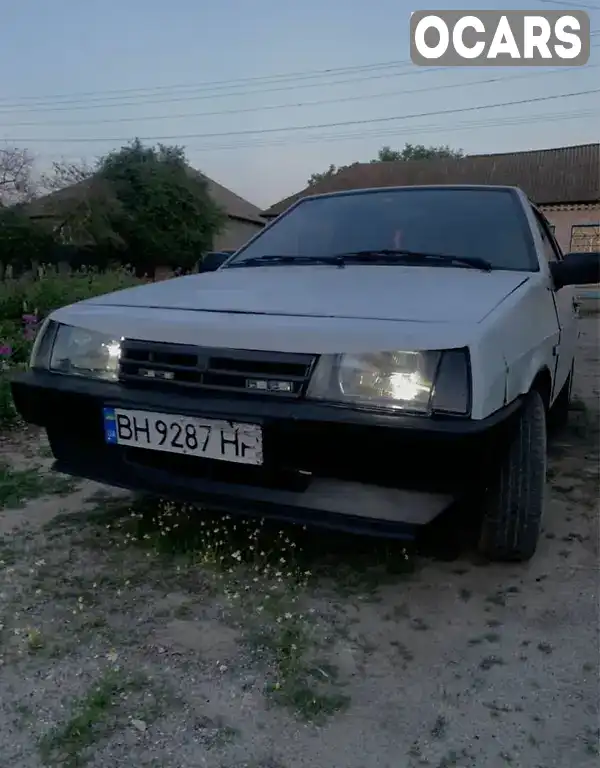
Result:
[[494,269],[531,271],[538,264],[526,226],[519,201],[509,190],[365,191],[302,201],[231,265],[263,255],[313,258],[405,249],[483,258]]

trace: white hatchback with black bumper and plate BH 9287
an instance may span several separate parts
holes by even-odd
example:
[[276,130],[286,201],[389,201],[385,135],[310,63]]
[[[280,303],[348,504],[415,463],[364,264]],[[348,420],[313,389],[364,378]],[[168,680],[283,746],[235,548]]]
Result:
[[481,552],[533,555],[599,254],[516,188],[432,186],[305,198],[223,258],[46,320],[12,390],[57,470],[397,537],[478,499]]

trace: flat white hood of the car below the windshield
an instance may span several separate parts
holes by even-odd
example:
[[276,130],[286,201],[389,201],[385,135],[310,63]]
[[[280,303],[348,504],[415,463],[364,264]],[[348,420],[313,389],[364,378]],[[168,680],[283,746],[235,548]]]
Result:
[[523,272],[389,265],[222,269],[98,296],[82,305],[417,323],[479,323]]

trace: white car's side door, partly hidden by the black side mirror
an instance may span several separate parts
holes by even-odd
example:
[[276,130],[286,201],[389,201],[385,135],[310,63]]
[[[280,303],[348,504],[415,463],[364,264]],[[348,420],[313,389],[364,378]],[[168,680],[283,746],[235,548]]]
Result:
[[[540,230],[544,253],[549,262],[562,261],[563,254],[550,225],[543,214],[532,206]],[[560,392],[561,387],[571,372],[577,339],[579,336],[579,302],[575,286],[566,285],[558,291],[553,291],[554,306],[558,317],[560,337],[556,353],[556,368],[554,373],[552,399]]]

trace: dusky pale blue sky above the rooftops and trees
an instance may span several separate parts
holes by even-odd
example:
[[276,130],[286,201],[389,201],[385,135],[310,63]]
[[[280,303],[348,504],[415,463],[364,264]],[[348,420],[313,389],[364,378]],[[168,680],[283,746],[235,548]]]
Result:
[[473,108],[600,87],[600,34],[585,67],[411,64],[411,11],[498,6],[576,6],[600,30],[600,0],[4,0],[0,146],[47,169],[135,136],[163,140],[266,207],[383,145],[474,154],[599,141],[600,93]]

